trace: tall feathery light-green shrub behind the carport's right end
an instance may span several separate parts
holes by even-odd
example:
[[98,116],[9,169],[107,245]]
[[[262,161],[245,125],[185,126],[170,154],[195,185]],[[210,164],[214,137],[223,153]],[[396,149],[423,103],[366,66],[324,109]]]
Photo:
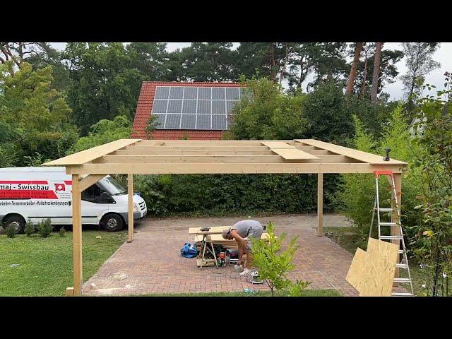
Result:
[[[414,225],[416,218],[414,206],[417,205],[416,197],[421,193],[420,178],[417,175],[419,169],[412,166],[415,155],[420,153],[420,148],[412,142],[408,126],[399,105],[393,111],[391,119],[381,128],[381,138],[376,140],[366,129],[360,119],[355,119],[355,138],[352,143],[357,150],[379,154],[383,157],[383,148],[391,148],[391,158],[408,162],[408,171],[403,174],[403,199],[402,215],[403,225],[410,236],[410,226]],[[361,243],[366,246],[369,226],[371,222],[372,208],[375,199],[375,177],[373,174],[344,174],[343,186],[335,194],[333,203],[336,207],[342,206],[345,213],[354,220],[359,227]],[[379,179],[380,205],[391,206],[391,186],[386,179]],[[375,225],[374,225],[375,226]],[[376,227],[374,227],[376,231]]]

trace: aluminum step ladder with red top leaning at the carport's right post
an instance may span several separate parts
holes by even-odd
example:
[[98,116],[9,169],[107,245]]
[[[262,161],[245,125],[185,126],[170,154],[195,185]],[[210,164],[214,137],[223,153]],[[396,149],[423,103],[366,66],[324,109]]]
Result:
[[[370,230],[369,230],[369,238],[371,237],[372,233],[372,227],[374,225],[375,215],[377,219],[378,224],[378,230],[379,230],[379,240],[388,240],[398,241],[399,244],[399,258],[400,255],[402,255],[402,260],[396,264],[396,268],[401,268],[404,270],[407,270],[408,278],[394,278],[394,283],[401,283],[401,284],[408,284],[410,285],[411,292],[405,292],[405,293],[399,293],[399,292],[393,292],[393,297],[413,297],[414,293],[412,290],[412,280],[411,280],[411,274],[410,274],[410,266],[408,266],[408,256],[407,256],[407,250],[405,247],[405,239],[403,239],[403,230],[402,230],[402,224],[400,219],[400,210],[399,210],[399,204],[397,201],[397,192],[396,192],[396,183],[394,182],[394,176],[393,172],[391,171],[374,171],[375,174],[375,202],[374,202],[374,210],[372,213],[372,220],[370,224]],[[379,201],[379,176],[380,175],[386,175],[388,176],[389,183],[392,186],[391,189],[391,208],[380,208],[380,201]],[[398,218],[396,218],[397,222],[382,222],[380,213],[391,213],[391,215],[397,214]],[[398,235],[381,235],[381,227],[389,227],[390,230],[393,230],[392,227],[398,227],[399,234]]]

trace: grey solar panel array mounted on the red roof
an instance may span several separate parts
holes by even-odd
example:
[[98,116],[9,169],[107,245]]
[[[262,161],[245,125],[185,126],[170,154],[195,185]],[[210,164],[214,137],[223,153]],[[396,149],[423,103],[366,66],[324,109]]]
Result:
[[243,95],[239,87],[157,86],[152,114],[157,129],[225,130]]

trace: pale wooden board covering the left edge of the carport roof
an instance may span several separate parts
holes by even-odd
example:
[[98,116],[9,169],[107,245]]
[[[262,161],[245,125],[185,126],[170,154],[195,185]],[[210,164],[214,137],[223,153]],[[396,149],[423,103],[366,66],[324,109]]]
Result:
[[112,141],[111,143],[105,143],[104,145],[89,148],[88,150],[82,150],[81,152],[66,157],[60,157],[57,160],[46,162],[42,166],[82,165],[86,162],[95,160],[97,157],[102,157],[102,155],[112,153],[119,148],[123,148],[126,145],[131,145],[138,141],[140,141],[140,139],[120,139]]

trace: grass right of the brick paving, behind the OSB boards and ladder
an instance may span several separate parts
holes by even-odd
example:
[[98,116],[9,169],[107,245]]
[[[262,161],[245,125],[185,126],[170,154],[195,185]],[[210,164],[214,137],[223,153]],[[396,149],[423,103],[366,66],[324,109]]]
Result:
[[[361,239],[358,227],[323,227],[323,231],[327,237],[331,238],[350,253],[355,254],[358,247],[357,244],[359,243],[359,239]],[[359,247],[364,249],[362,246]],[[415,261],[410,261],[410,258],[408,258],[408,262],[410,263],[413,292],[415,292],[415,295],[419,296],[426,295],[426,290],[422,288],[422,284],[424,284],[426,280],[425,271],[422,270]],[[403,275],[405,271],[406,270],[400,270],[400,277],[405,277],[405,275]]]

